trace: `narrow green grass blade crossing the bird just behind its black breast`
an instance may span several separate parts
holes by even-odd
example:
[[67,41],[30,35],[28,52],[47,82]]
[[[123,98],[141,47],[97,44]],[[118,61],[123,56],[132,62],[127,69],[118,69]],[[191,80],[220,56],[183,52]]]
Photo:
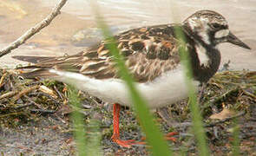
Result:
[[192,113],[194,135],[198,142],[200,155],[207,156],[209,155],[209,150],[207,147],[206,134],[203,128],[202,117],[200,115],[200,108],[197,103],[197,97],[195,94],[195,89],[192,81],[193,74],[191,68],[191,61],[189,60],[188,57],[189,52],[186,49],[186,38],[183,34],[181,27],[175,27],[175,35],[177,36],[181,44],[179,52],[181,55],[181,64],[185,69],[185,80],[188,88],[189,105]]

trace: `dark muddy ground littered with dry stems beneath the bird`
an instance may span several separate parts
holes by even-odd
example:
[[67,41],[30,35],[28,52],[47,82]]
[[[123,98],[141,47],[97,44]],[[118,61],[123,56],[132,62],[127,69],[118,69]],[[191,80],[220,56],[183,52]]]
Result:
[[[0,69],[2,155],[75,155],[73,109],[67,94],[61,82],[24,80],[13,70]],[[112,105],[83,92],[79,97],[85,125],[99,121],[103,155],[149,154],[148,146],[122,148],[110,140]],[[233,131],[239,127],[240,154],[256,155],[256,72],[220,72],[207,83],[200,99],[211,153],[232,155]],[[170,142],[176,155],[197,154],[187,100],[154,110],[154,116],[164,133],[180,133],[174,136],[176,142]],[[141,140],[142,136],[134,112],[122,107],[121,138]]]

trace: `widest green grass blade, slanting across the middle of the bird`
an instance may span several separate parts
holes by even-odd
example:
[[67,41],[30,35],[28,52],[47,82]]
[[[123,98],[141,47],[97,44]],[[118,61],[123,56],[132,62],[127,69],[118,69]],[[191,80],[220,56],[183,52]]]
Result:
[[112,36],[110,30],[108,29],[107,24],[104,23],[102,16],[100,16],[95,5],[93,5],[93,10],[95,11],[97,24],[102,29],[102,35],[108,41],[107,47],[115,58],[117,68],[120,72],[119,74],[121,75],[122,80],[125,81],[126,86],[129,90],[131,100],[133,101],[135,107],[135,113],[140,119],[142,130],[146,134],[149,145],[152,146],[150,148],[152,155],[172,155],[171,150],[168,149],[167,141],[163,139],[163,135],[159,127],[157,127],[154,123],[153,115],[150,114],[146,101],[142,99],[141,95],[135,88],[133,78],[129,74],[128,68],[126,68],[125,66],[119,49],[117,49],[115,39]]

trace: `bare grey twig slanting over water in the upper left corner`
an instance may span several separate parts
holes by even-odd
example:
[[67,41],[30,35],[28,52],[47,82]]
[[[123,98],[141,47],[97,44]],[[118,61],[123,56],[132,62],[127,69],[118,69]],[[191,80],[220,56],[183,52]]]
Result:
[[30,28],[27,32],[16,39],[15,42],[10,43],[7,47],[0,50],[0,57],[3,55],[7,55],[11,50],[18,48],[24,42],[26,42],[31,36],[34,36],[37,32],[39,32],[44,27],[48,26],[51,21],[61,13],[62,6],[67,2],[67,0],[60,0],[56,7],[51,11],[49,16],[47,16],[43,21],[37,23],[36,26]]

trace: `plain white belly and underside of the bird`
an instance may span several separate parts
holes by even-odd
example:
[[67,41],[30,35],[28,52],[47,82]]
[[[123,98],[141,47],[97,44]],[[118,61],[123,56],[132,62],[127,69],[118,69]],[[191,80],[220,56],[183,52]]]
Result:
[[[131,105],[128,90],[125,83],[120,79],[97,80],[77,73],[53,69],[50,72],[60,75],[57,80],[71,83],[103,101],[117,102],[124,106]],[[135,86],[148,101],[149,107],[162,107],[187,97],[187,86],[184,80],[183,71],[179,68],[161,75],[154,81],[135,83]],[[197,87],[198,85],[199,82],[194,81],[194,86]]]

